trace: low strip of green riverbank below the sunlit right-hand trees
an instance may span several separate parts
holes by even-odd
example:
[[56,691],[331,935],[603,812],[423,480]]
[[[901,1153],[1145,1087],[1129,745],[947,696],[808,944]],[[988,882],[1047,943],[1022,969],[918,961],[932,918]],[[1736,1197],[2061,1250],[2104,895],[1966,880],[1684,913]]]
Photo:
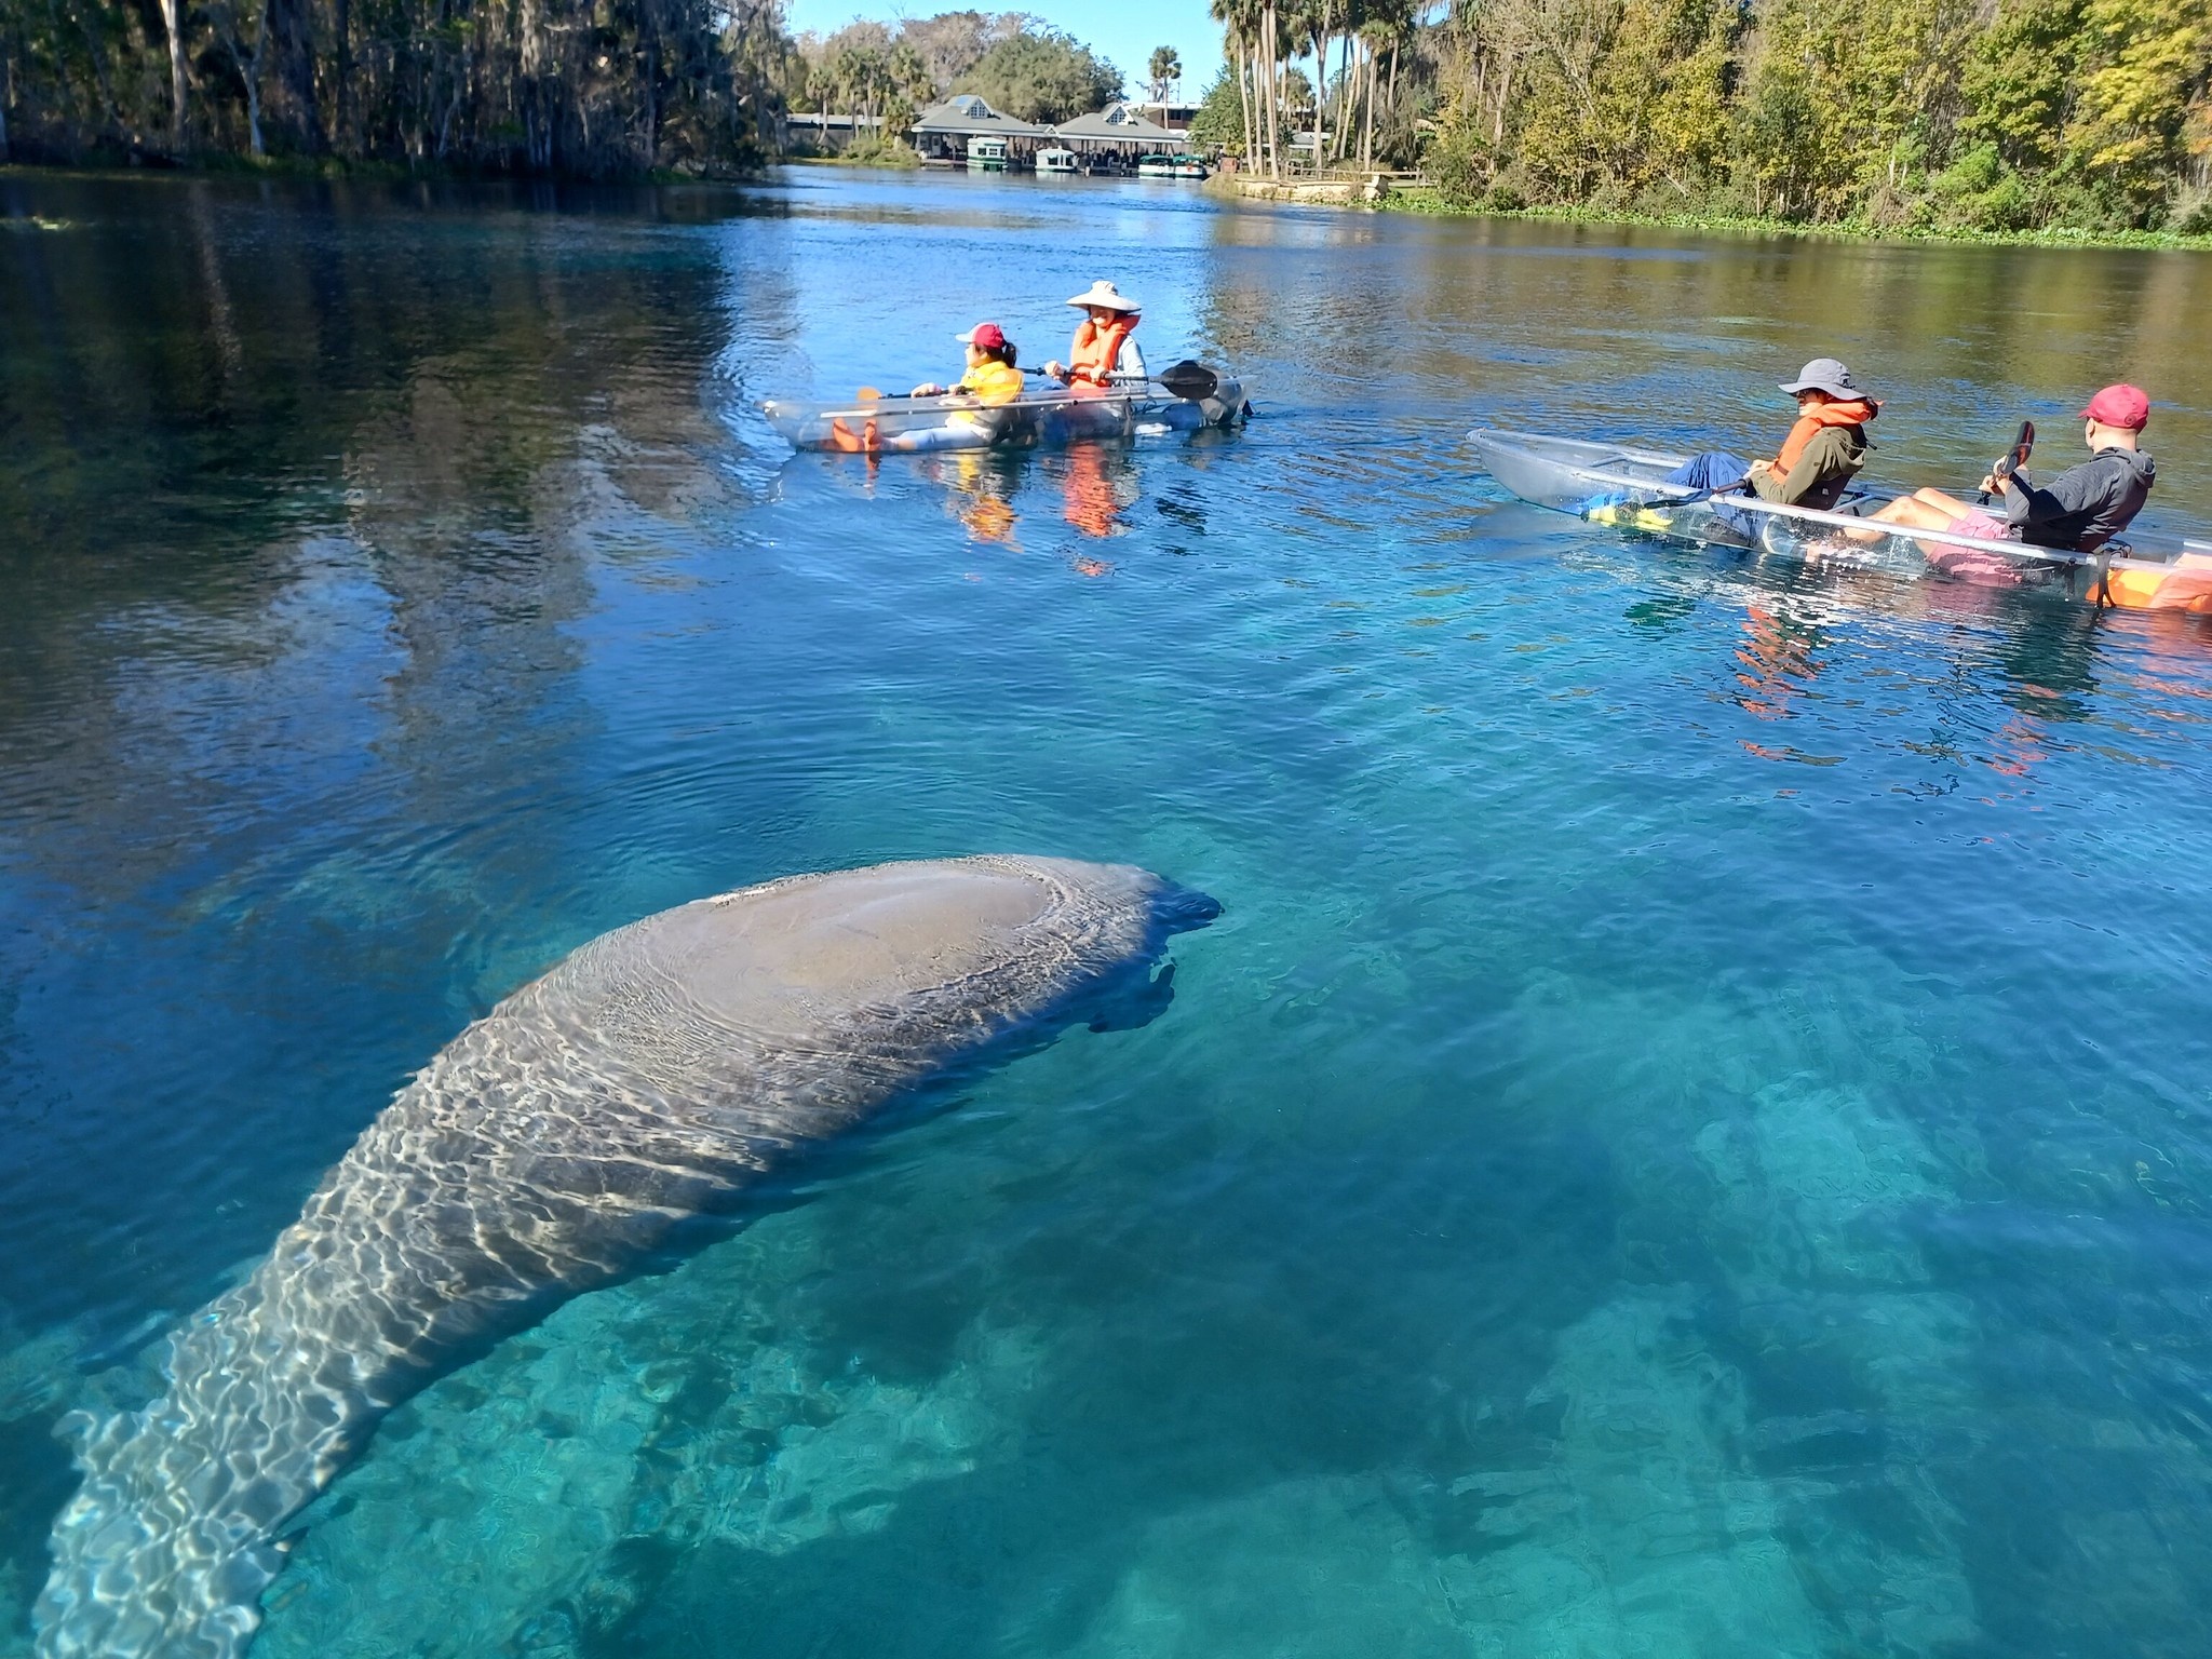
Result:
[[1752,219],[1701,212],[1626,212],[1615,208],[1460,208],[1425,186],[1391,186],[1380,201],[1365,197],[1356,179],[1245,179],[1214,175],[1208,190],[1241,201],[1276,201],[1307,208],[1358,208],[1363,212],[1413,212],[1436,219],[1537,219],[1546,223],[1644,226],[1694,234],[1734,237],[1820,237],[1829,241],[1944,241],[1982,243],[1991,248],[2148,248],[2174,252],[2212,252],[2212,234],[2172,230],[1966,230],[1951,226],[1878,226],[1840,219],[1836,223],[1803,223],[1792,219]]

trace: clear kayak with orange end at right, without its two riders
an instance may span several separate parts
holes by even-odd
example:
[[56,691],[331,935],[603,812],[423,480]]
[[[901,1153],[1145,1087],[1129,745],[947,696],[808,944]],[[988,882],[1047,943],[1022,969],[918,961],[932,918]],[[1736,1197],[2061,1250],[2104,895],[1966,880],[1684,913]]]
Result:
[[[2068,553],[1949,531],[1876,531],[1849,507],[1820,513],[1666,482],[1688,456],[1489,427],[1469,431],[1467,442],[1482,458],[1482,469],[1524,502],[1575,513],[1593,524],[1699,546],[1761,551],[1796,564],[2035,588],[2126,611],[2212,617],[2208,542],[2181,542],[2174,549],[2112,542],[2104,553]],[[1874,511],[1880,502],[1869,498],[1856,507]]]

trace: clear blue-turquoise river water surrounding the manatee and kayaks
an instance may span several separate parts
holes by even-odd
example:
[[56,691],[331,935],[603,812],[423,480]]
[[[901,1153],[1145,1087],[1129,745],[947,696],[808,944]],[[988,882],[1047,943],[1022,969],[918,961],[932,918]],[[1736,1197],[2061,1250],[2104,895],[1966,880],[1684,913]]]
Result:
[[[790,869],[1228,905],[310,1511],[259,1655],[2194,1655],[2212,628],[1502,502],[1475,420],[1876,467],[2161,398],[2212,263],[796,173],[0,175],[0,1652],[71,1491],[394,1086]],[[44,221],[38,223],[38,221]],[[787,460],[1115,276],[1232,442]]]

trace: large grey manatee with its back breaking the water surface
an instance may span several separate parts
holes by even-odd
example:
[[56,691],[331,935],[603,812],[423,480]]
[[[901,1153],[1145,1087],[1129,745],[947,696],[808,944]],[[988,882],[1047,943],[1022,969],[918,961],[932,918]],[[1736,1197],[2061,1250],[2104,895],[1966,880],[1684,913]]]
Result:
[[285,1522],[392,1407],[734,1225],[805,1148],[1157,1009],[1166,940],[1217,914],[1128,865],[956,858],[790,876],[580,947],[453,1037],[170,1336],[164,1398],[69,1425],[84,1484],[40,1655],[246,1652]]

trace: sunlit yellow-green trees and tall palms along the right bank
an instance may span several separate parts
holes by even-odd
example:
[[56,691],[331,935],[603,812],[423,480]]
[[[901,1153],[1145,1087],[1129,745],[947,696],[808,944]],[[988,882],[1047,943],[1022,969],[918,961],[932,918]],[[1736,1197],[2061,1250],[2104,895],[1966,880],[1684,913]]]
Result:
[[[2212,232],[2212,0],[1214,0],[1201,133],[1462,208]],[[1276,142],[1270,142],[1274,135]]]

